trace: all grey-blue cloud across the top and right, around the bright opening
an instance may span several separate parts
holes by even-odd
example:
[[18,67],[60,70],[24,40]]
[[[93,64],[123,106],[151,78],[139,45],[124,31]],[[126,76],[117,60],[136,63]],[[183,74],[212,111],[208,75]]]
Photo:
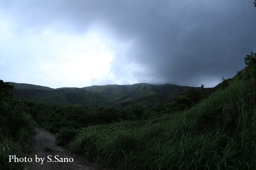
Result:
[[211,87],[206,81],[232,78],[256,51],[253,1],[4,2],[12,9],[6,15],[20,17],[17,31],[95,28],[114,42],[132,41],[126,53],[117,49],[112,69],[118,77],[123,65],[137,63],[142,69],[132,73],[139,82]]

